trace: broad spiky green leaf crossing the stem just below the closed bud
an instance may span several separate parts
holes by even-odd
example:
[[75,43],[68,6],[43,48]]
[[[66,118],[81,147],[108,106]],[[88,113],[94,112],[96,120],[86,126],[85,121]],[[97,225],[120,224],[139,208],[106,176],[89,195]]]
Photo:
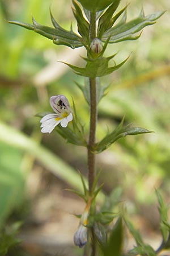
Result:
[[[115,56],[115,55],[113,55]],[[118,68],[120,68],[127,60],[122,61],[118,65],[114,65],[113,67],[108,67],[109,60],[113,57],[99,57],[98,59],[86,59],[83,58],[84,60],[87,61],[86,68],[80,68],[76,67],[74,65],[71,65],[69,63],[64,64],[68,65],[73,71],[76,73],[76,75],[79,76],[86,76],[90,78],[95,78],[95,77],[101,77],[101,76],[106,76],[111,74],[113,71],[116,71]]]

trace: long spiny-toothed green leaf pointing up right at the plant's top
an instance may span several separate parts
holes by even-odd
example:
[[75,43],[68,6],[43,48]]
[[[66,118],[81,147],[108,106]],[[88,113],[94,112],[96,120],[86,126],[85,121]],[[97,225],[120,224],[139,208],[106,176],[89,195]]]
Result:
[[141,31],[142,28],[152,25],[156,22],[156,19],[160,18],[165,13],[165,11],[158,11],[157,13],[145,16],[143,10],[141,11],[138,18],[126,22],[126,13],[116,26],[109,28],[102,37],[102,41],[105,42],[108,36],[111,36],[109,43],[117,43],[125,40],[135,40],[138,39],[141,34],[135,35],[137,32]]

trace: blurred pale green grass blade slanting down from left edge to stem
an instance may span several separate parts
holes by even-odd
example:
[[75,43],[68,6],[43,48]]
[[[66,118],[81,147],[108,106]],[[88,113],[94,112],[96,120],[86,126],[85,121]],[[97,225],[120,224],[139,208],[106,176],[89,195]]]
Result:
[[[10,126],[7,126],[3,122],[0,122],[0,130],[0,142],[5,142],[12,147],[19,148],[20,150],[35,156],[35,158],[39,160],[39,162],[46,169],[62,180],[65,180],[69,185],[71,185],[71,187],[83,192],[83,186],[82,183],[80,183],[80,176],[78,172],[63,162],[63,160],[57,155],[54,155],[53,152],[50,152],[45,147],[41,146],[41,144],[29,138],[27,135]],[[86,178],[83,180],[87,184]],[[103,193],[99,193],[97,200],[104,200]]]

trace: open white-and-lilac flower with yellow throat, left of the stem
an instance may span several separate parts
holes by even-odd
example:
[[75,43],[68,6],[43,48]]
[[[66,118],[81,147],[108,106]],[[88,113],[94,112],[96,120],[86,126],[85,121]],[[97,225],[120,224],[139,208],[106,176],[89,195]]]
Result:
[[68,122],[73,120],[69,101],[65,96],[52,96],[49,102],[55,113],[45,115],[41,118],[41,133],[51,133],[58,123],[62,127],[67,127]]

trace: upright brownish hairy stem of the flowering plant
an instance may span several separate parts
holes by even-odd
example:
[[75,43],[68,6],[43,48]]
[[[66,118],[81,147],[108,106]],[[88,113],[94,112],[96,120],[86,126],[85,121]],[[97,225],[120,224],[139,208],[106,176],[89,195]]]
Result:
[[[96,38],[96,13],[91,13],[90,16],[90,42]],[[88,140],[88,186],[89,191],[92,193],[92,185],[95,180],[96,161],[95,154],[92,153],[92,149],[95,145],[96,134],[96,122],[97,122],[97,101],[96,101],[96,78],[90,79],[90,134]],[[95,213],[95,206],[94,206]],[[94,228],[91,228],[91,255],[96,255],[96,239]]]

